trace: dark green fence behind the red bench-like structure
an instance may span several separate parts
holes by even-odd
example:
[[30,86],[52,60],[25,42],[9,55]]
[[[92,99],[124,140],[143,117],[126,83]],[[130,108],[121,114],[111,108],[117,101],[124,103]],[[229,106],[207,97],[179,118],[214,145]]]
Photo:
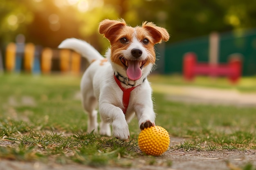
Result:
[[[161,73],[182,73],[187,52],[196,53],[198,62],[209,62],[209,36],[166,45]],[[256,75],[256,29],[220,34],[218,62],[227,63],[233,53],[243,55],[243,75]]]

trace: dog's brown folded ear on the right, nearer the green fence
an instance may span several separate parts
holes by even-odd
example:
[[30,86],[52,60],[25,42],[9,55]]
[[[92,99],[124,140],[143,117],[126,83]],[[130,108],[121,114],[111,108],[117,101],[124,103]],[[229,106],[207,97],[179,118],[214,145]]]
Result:
[[166,29],[156,26],[153,22],[143,22],[142,28],[149,31],[150,35],[154,38],[155,44],[169,40],[169,34]]

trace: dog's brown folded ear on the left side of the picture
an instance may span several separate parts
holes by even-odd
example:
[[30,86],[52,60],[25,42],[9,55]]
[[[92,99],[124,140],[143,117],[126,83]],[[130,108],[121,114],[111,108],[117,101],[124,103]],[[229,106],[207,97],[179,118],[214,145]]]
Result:
[[99,24],[99,33],[103,34],[108,40],[114,38],[113,35],[117,35],[117,31],[126,26],[126,22],[121,20],[103,20]]

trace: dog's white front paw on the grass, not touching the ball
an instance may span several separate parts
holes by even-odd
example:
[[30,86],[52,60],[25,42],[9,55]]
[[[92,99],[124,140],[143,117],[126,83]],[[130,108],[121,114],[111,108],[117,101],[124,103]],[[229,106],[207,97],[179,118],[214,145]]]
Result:
[[113,136],[121,141],[126,141],[130,138],[128,124],[112,124]]

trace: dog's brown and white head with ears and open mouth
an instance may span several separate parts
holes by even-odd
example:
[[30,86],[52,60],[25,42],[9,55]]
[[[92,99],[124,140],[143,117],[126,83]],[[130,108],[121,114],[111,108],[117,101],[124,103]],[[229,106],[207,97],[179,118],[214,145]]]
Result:
[[154,45],[169,39],[166,29],[152,22],[133,28],[124,20],[103,20],[99,33],[110,41],[110,62],[114,71],[133,81],[150,73],[155,64]]

